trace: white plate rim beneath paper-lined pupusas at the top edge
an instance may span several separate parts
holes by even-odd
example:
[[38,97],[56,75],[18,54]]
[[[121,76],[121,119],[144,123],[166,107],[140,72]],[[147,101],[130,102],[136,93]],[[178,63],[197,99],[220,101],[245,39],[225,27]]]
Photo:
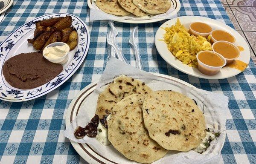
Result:
[[[92,4],[94,3],[95,0],[88,0],[87,1],[87,4],[88,4],[88,7],[91,9],[93,6]],[[175,14],[177,14],[179,11],[180,11],[180,1],[179,0],[171,0],[172,2],[172,6],[174,6],[174,11],[172,12],[171,15],[169,16],[174,16]],[[161,19],[161,18],[155,18],[155,19],[148,19],[148,18],[145,18],[142,20],[142,18],[137,18],[138,20],[134,20],[135,17],[133,17],[133,19],[124,19],[124,20],[114,20],[114,21],[117,21],[117,22],[122,22],[122,23],[136,23],[136,24],[140,24],[140,23],[153,23],[153,22],[159,22],[161,20],[165,20],[165,19]]]

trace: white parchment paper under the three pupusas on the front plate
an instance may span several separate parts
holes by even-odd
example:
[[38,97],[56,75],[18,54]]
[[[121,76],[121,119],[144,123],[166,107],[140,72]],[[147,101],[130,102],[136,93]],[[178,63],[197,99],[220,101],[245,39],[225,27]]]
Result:
[[79,109],[78,115],[73,120],[72,124],[67,126],[67,129],[64,131],[67,138],[79,143],[91,144],[99,154],[116,163],[137,163],[125,158],[120,152],[115,150],[112,145],[103,146],[95,138],[85,136],[82,139],[76,139],[73,135],[73,131],[78,125],[85,127],[95,115],[97,98],[99,93],[105,89],[105,84],[110,83],[113,81],[113,78],[122,74],[145,82],[153,91],[161,89],[173,90],[194,99],[198,107],[204,112],[207,128],[221,132],[218,138],[211,141],[210,146],[203,154],[199,154],[193,150],[189,152],[169,151],[164,158],[155,161],[153,164],[218,164],[226,135],[225,115],[228,112],[227,96],[197,89],[195,87],[189,87],[175,80],[152,75],[151,73],[137,69],[113,57],[108,61],[105,71],[99,79],[96,90],[85,99],[80,107],[81,109]]

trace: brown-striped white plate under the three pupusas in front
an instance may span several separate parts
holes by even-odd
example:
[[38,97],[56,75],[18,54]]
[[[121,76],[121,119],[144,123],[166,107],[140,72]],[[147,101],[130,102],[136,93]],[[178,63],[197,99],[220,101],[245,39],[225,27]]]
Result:
[[[182,81],[180,79],[168,76],[168,75],[162,75],[158,73],[152,73],[154,75],[157,75],[161,78],[168,79],[170,81],[175,81],[177,83],[182,83],[186,86],[195,87],[192,86],[189,83],[186,83],[185,81]],[[97,82],[93,82],[86,86],[84,89],[82,89],[79,94],[76,96],[76,98],[73,99],[71,102],[69,108],[67,109],[66,114],[66,127],[70,125],[70,123],[73,121],[73,119],[76,117],[76,115],[79,112],[80,106],[82,102],[87,98],[88,95],[90,95],[95,89],[96,89]],[[100,155],[98,152],[96,152],[93,147],[89,144],[81,144],[74,142],[70,140],[71,144],[75,148],[76,152],[84,158],[85,161],[87,161],[89,164],[117,164],[114,162],[114,159],[109,159],[108,157],[104,157]]]

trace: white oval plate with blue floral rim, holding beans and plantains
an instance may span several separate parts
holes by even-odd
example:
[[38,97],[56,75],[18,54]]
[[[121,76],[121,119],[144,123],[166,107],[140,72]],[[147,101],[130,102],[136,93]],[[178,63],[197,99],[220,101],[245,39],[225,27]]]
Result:
[[6,82],[3,72],[0,72],[0,99],[4,101],[27,101],[38,98],[51,92],[53,89],[61,86],[62,83],[67,81],[79,68],[87,55],[90,34],[85,23],[75,15],[67,13],[53,13],[47,14],[41,17],[37,17],[34,20],[20,26],[6,40],[0,44],[0,68],[2,69],[3,63],[11,58],[12,56],[20,53],[36,52],[29,44],[27,39],[33,38],[35,31],[35,22],[38,20],[49,19],[52,17],[65,17],[70,15],[72,17],[72,26],[77,30],[78,33],[78,45],[75,49],[70,51],[69,59],[67,63],[63,64],[63,71],[53,78],[48,83],[33,89],[17,89],[9,85]]

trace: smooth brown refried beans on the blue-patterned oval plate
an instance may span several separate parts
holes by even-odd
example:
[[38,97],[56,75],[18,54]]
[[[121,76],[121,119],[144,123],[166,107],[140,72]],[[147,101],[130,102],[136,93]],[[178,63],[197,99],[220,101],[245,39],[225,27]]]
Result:
[[19,89],[32,89],[55,78],[62,70],[61,64],[49,62],[38,52],[16,55],[3,64],[5,80]]

